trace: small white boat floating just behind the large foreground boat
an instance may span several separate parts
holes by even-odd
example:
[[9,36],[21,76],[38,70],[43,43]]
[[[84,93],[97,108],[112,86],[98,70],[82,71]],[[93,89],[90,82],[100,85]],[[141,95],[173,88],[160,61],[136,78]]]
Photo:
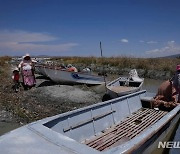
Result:
[[143,78],[139,78],[137,71],[131,70],[129,77],[119,77],[106,85],[107,94],[110,98],[116,98],[141,90],[144,83]]

